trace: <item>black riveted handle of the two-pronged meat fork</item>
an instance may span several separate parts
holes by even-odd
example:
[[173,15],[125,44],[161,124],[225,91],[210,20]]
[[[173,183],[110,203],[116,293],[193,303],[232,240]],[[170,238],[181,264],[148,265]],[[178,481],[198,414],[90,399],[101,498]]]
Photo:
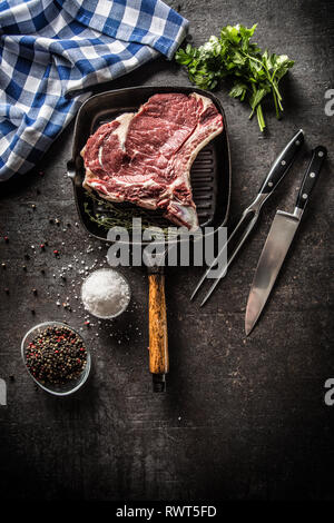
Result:
[[268,176],[264,180],[259,194],[269,195],[275,190],[279,181],[284,178],[289,167],[292,166],[297,152],[304,144],[304,131],[299,129],[298,132],[289,140],[287,146],[283,149],[281,155],[276,158]]

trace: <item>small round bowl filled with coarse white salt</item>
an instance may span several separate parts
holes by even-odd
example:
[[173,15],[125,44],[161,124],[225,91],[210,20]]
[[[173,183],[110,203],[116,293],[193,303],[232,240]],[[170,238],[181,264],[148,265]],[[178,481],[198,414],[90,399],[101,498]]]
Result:
[[125,277],[110,268],[91,273],[81,287],[81,299],[89,313],[98,318],[114,318],[130,300],[130,288]]

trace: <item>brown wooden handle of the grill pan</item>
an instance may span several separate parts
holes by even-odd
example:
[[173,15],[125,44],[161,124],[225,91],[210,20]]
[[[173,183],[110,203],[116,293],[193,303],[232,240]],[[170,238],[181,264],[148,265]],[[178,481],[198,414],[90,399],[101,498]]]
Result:
[[165,391],[165,375],[169,371],[165,276],[161,273],[148,275],[149,282],[149,371],[153,374],[154,391]]

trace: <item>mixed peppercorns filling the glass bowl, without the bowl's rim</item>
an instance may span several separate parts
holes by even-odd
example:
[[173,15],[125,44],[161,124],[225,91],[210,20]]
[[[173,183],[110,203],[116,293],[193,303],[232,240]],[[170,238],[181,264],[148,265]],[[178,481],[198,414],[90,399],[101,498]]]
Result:
[[26,348],[29,372],[40,383],[66,384],[87,364],[81,337],[69,327],[47,327]]

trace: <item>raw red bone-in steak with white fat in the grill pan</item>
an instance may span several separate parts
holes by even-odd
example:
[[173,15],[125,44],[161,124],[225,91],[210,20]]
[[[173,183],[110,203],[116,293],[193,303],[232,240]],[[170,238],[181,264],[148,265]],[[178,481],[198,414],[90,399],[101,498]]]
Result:
[[174,224],[194,230],[190,168],[222,130],[222,115],[209,98],[154,95],[138,112],[125,112],[89,137],[81,151],[84,187],[110,201],[161,209]]

